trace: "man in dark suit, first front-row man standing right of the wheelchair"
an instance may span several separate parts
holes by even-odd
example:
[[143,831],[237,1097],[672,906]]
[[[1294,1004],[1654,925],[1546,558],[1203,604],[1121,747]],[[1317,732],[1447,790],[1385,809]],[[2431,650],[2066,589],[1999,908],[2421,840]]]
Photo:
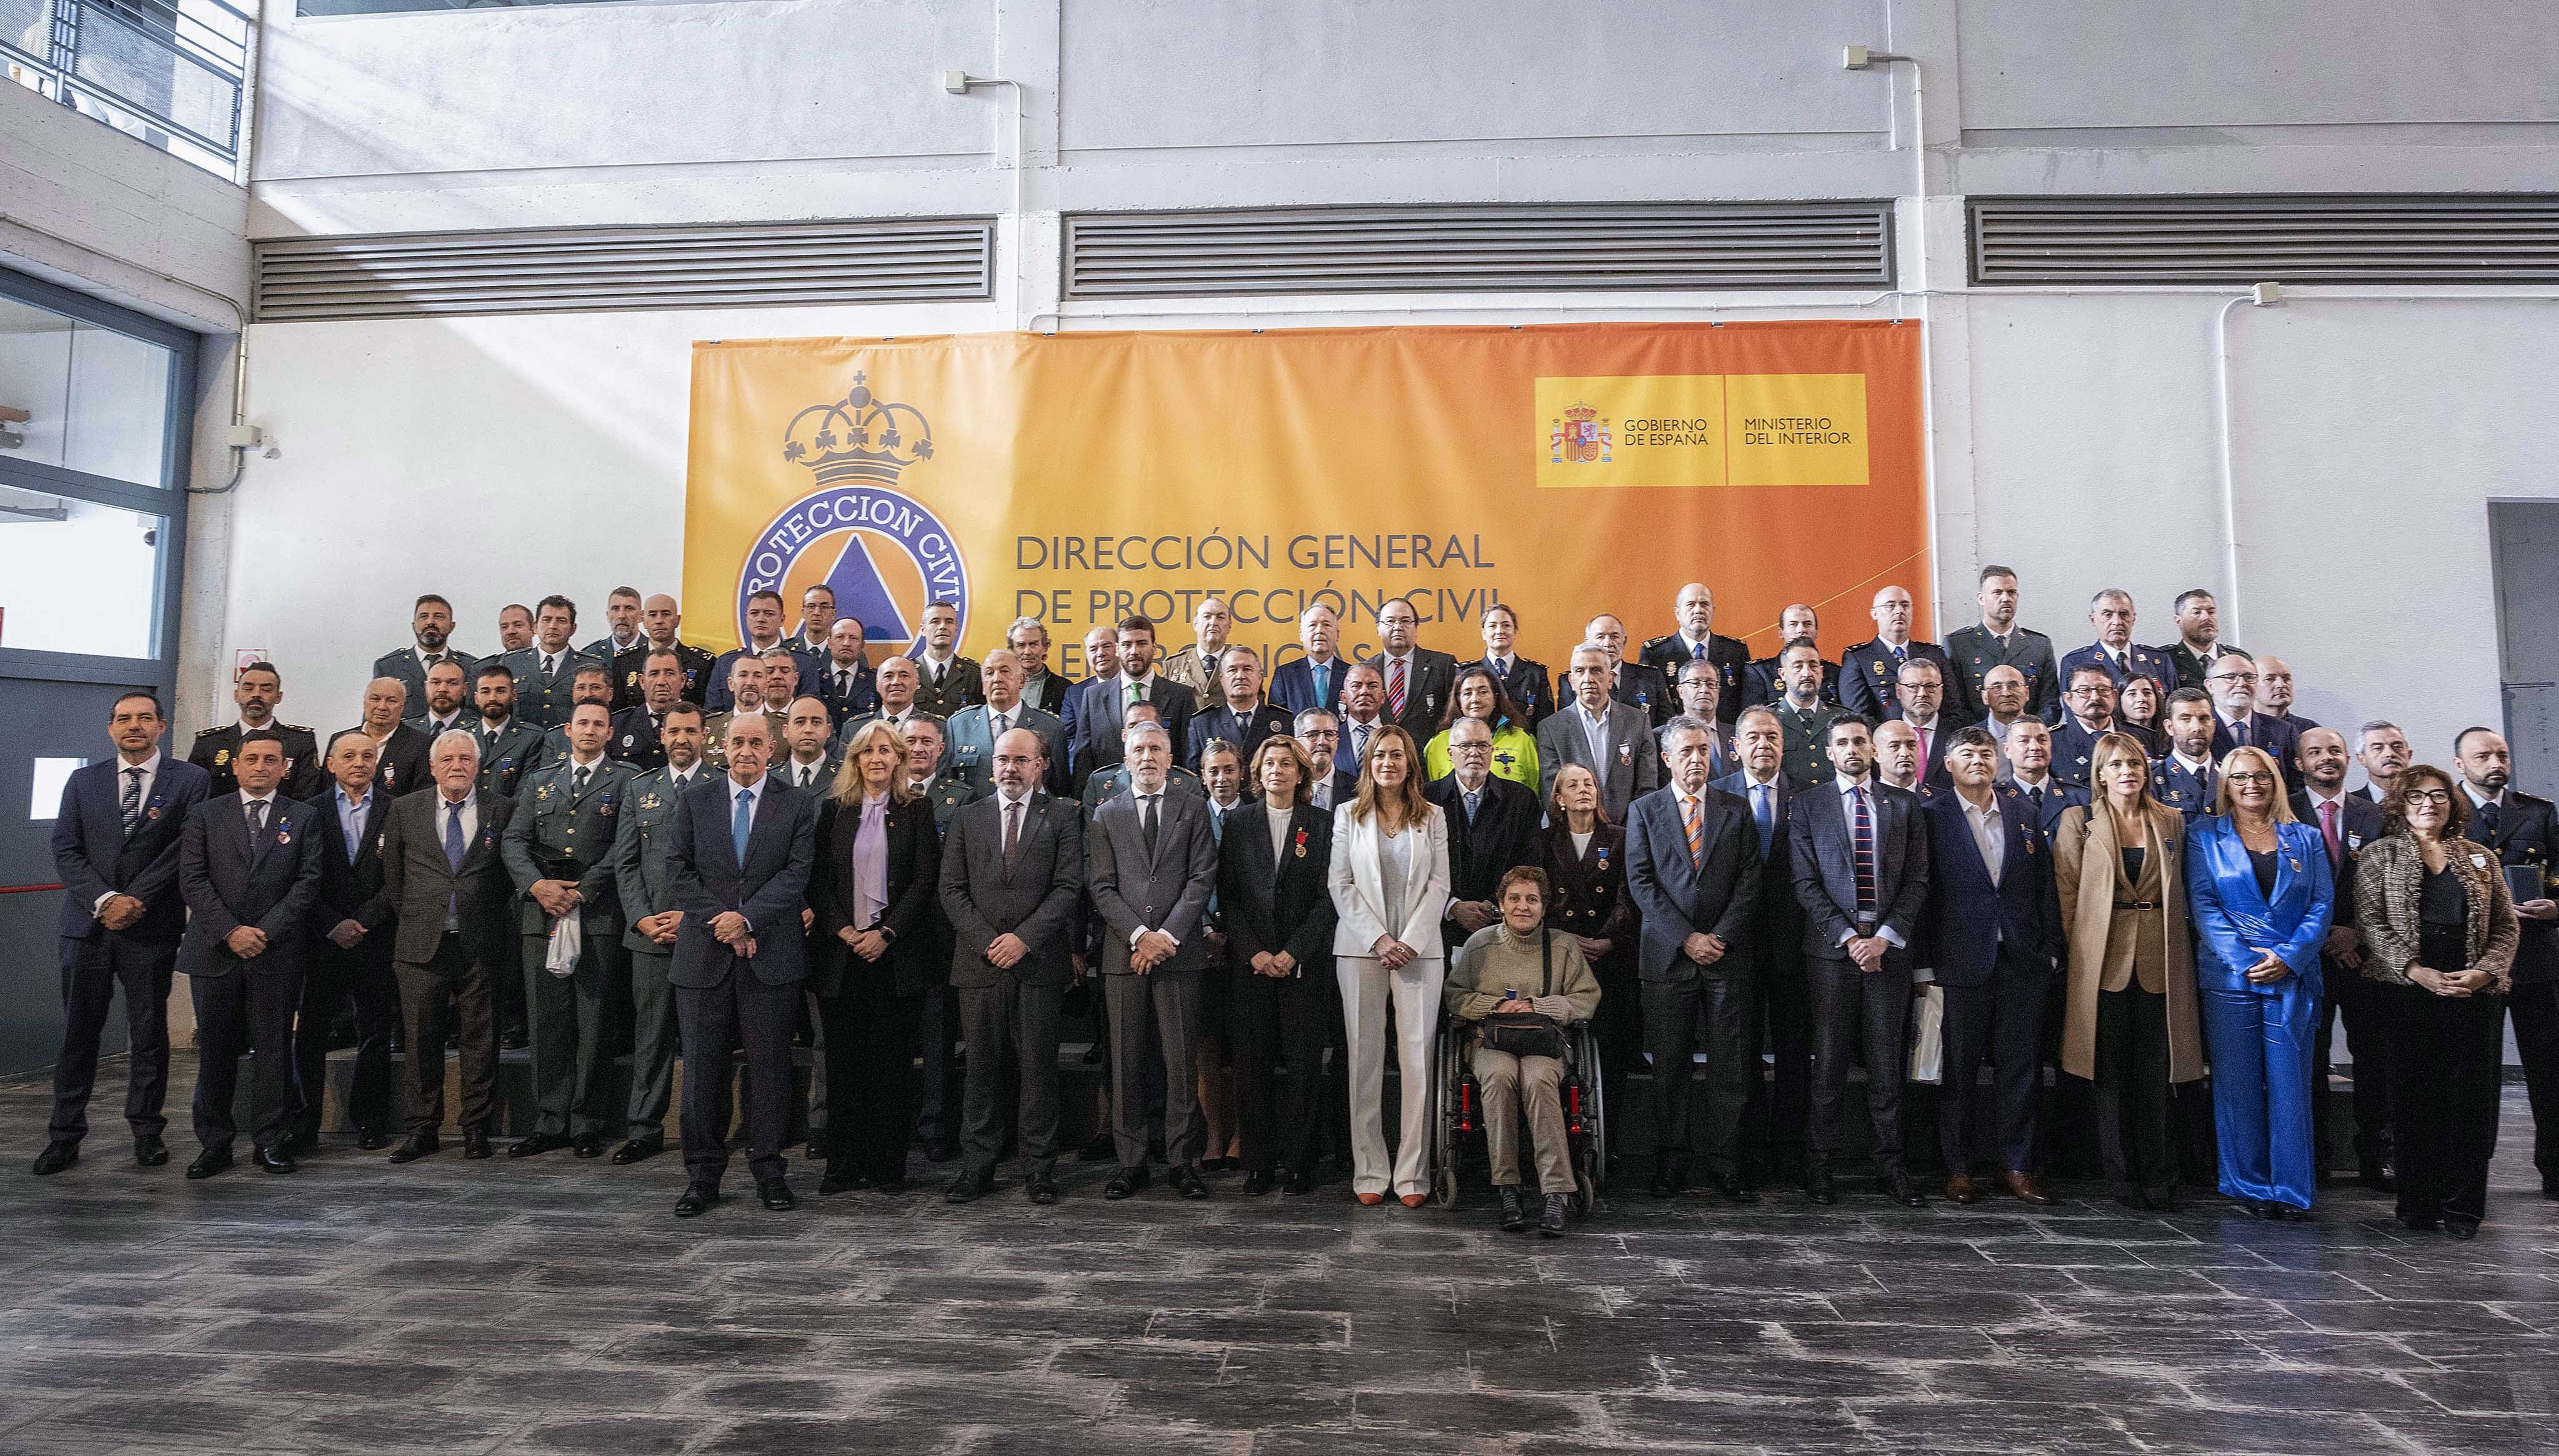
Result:
[[[1643,924],[1643,1049],[1653,1059],[1656,1198],[1686,1187],[1704,1157],[1732,1203],[1758,1203],[1738,1157],[1743,1105],[1758,1075],[1750,1018],[1750,921],[1761,896],[1761,839],[1750,806],[1707,783],[1717,727],[1671,719],[1671,783],[1635,801],[1625,824],[1625,890]],[[1707,1126],[1689,1131],[1689,1080],[1707,1052]]]

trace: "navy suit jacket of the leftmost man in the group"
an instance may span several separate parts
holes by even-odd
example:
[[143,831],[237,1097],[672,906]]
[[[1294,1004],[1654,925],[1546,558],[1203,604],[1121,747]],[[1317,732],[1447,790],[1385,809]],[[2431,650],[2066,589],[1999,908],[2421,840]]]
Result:
[[[54,873],[61,875],[61,937],[125,934],[146,944],[177,944],[187,929],[187,903],[177,893],[177,842],[194,806],[212,793],[212,775],[161,750],[151,798],[125,837],[123,757],[72,770],[54,816]],[[97,924],[97,896],[133,896],[143,919],[110,931]]]

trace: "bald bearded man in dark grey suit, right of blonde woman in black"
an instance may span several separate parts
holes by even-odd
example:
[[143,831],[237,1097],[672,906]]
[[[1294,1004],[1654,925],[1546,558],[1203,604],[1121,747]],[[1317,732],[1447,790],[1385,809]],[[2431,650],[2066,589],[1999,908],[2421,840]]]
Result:
[[967,1039],[962,1167],[949,1200],[995,1187],[1006,1059],[1021,1077],[1021,1151],[1031,1203],[1057,1203],[1057,1018],[1075,977],[1070,939],[1085,893],[1082,814],[1039,793],[1049,765],[1036,732],[995,740],[995,793],[952,816],[942,839],[942,914],[952,924],[952,990]]

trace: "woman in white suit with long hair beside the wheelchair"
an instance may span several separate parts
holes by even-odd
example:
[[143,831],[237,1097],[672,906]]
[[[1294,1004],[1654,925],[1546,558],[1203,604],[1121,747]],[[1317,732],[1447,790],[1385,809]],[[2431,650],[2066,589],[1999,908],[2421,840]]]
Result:
[[[1333,975],[1351,1054],[1351,1192],[1359,1203],[1420,1208],[1430,1187],[1430,1057],[1438,1036],[1441,914],[1448,908],[1448,821],[1423,798],[1423,755],[1413,734],[1384,727],[1359,763],[1359,796],[1333,821]],[[1384,1036],[1395,1026],[1402,1070],[1402,1141],[1387,1167]]]

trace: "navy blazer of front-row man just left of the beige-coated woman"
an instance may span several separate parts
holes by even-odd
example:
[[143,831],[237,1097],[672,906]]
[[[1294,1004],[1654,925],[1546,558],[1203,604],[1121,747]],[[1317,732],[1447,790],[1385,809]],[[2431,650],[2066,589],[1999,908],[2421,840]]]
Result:
[[1937,942],[1937,985],[1991,985],[1999,947],[2009,944],[2029,965],[2052,970],[2063,949],[2063,903],[2052,888],[2052,839],[2029,824],[2027,796],[2014,786],[1993,786],[1999,827],[2006,844],[1999,857],[1999,883],[1981,862],[1973,821],[1963,793],[1940,788],[1919,796],[1919,819],[1929,842],[1929,908]]

